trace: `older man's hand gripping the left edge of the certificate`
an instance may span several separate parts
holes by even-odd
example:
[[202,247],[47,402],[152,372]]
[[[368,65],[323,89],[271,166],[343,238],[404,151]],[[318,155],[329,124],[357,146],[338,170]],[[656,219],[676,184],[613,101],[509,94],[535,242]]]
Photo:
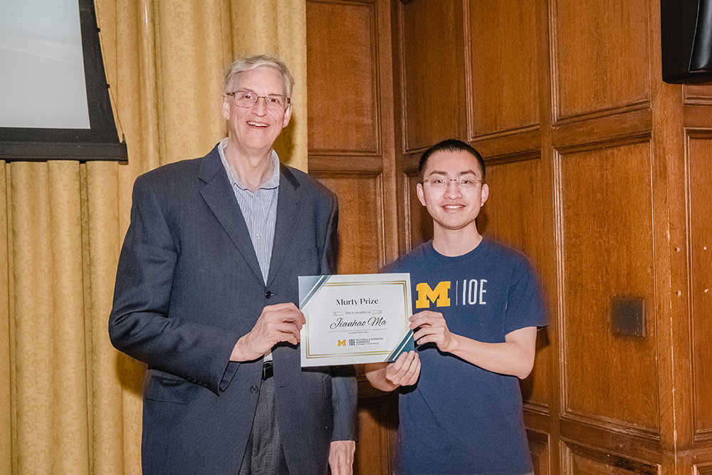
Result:
[[230,360],[256,360],[281,341],[296,345],[305,323],[304,314],[294,303],[266,306],[252,330],[237,341]]

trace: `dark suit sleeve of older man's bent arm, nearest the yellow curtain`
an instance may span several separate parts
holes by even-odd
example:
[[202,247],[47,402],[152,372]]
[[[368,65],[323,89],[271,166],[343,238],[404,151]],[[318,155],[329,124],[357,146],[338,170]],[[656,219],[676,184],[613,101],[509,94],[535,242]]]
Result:
[[150,367],[218,393],[239,335],[168,318],[179,249],[151,183],[142,176],[134,185],[109,317],[110,339]]

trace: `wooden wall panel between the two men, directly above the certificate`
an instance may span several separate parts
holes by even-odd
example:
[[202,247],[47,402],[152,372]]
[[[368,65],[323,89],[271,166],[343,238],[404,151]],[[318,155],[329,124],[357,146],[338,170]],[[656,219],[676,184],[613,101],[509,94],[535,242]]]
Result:
[[379,176],[320,176],[339,199],[339,273],[373,273],[385,264]]

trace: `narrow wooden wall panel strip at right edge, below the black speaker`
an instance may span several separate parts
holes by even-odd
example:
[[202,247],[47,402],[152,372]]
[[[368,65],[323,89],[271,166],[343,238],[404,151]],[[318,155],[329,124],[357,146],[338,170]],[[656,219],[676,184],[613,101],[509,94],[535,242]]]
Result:
[[712,132],[689,137],[694,437],[712,440]]

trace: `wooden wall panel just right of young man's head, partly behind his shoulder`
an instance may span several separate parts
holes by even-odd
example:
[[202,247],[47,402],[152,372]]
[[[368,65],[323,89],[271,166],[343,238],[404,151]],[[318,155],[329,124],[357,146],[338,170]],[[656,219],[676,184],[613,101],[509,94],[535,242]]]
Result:
[[[485,236],[523,251],[538,268],[540,276],[555,275],[553,263],[547,259],[548,241],[542,220],[544,195],[541,160],[518,160],[487,164],[486,182],[489,198],[477,218],[478,230]],[[551,310],[555,302],[549,303]],[[550,348],[547,332],[540,332],[538,352],[532,374],[522,382],[523,395],[529,404],[542,409],[550,402]]]

